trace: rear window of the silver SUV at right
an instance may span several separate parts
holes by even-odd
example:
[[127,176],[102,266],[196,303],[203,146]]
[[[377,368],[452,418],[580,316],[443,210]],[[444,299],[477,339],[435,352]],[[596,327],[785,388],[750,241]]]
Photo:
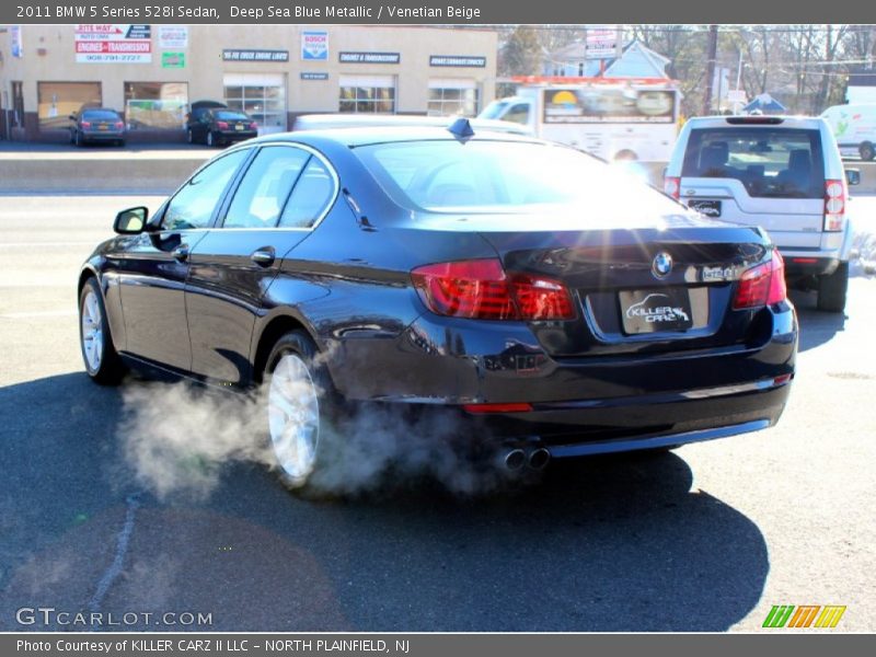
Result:
[[740,181],[749,196],[821,198],[825,163],[818,130],[691,130],[681,175]]

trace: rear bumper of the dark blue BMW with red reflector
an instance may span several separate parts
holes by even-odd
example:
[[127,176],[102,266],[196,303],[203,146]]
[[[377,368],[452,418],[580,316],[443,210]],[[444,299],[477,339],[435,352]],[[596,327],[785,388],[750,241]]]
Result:
[[344,365],[330,369],[347,399],[451,411],[472,441],[554,457],[658,448],[779,420],[797,322],[791,304],[762,312],[771,321],[757,344],[575,358],[550,357],[522,323],[427,313],[397,339],[342,341]]

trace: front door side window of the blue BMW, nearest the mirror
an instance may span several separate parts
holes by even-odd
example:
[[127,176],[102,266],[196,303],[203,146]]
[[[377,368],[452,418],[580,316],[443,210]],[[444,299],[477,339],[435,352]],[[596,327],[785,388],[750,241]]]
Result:
[[249,149],[234,151],[201,169],[168,203],[161,228],[207,228],[231,178],[249,155]]

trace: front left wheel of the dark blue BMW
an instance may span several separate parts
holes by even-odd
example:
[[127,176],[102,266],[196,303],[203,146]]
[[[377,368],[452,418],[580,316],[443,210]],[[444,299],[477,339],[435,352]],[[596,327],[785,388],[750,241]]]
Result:
[[113,346],[103,295],[94,278],[89,278],[79,293],[79,345],[92,381],[101,385],[122,381],[125,365]]

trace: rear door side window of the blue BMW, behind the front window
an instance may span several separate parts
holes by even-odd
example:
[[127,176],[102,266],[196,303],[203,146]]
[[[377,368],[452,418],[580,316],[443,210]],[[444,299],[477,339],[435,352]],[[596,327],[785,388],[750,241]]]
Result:
[[258,151],[234,193],[223,228],[274,228],[310,153],[270,146]]

